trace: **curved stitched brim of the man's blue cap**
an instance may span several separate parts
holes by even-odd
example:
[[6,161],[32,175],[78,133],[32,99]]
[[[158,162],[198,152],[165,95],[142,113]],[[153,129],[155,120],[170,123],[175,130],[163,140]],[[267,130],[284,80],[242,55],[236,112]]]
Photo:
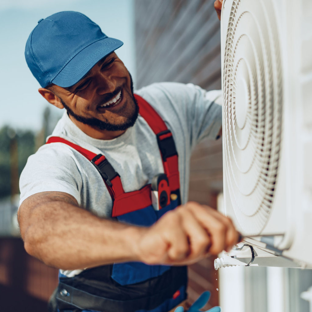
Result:
[[98,61],[123,44],[110,37],[93,42],[76,54],[51,82],[63,88],[76,84]]

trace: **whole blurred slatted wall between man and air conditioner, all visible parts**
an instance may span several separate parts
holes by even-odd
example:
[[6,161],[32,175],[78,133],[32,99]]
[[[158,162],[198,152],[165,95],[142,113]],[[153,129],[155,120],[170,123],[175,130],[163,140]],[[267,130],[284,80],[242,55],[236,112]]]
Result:
[[[192,82],[221,89],[220,22],[214,0],[135,0],[136,87],[153,82]],[[222,142],[204,141],[191,162],[189,199],[216,208],[222,191]],[[218,304],[214,257],[189,267],[188,293],[204,290]],[[208,306],[207,306],[208,307]]]

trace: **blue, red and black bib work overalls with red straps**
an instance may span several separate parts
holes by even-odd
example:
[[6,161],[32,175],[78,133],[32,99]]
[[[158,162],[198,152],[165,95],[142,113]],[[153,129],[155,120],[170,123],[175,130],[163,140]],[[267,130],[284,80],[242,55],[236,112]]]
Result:
[[[112,197],[113,219],[138,226],[151,226],[165,212],[181,203],[178,154],[172,133],[158,113],[143,98],[134,96],[140,115],[157,137],[163,160],[166,176],[161,177],[164,177],[162,181],[169,189],[169,196],[166,197],[163,193],[165,197],[158,198],[162,201],[161,209],[155,209],[155,204],[153,207],[151,194],[155,186],[151,184],[125,193],[119,174],[105,156],[96,155],[59,137],[50,137],[47,143],[68,144],[94,164]],[[158,190],[158,197],[161,195],[160,191]],[[60,274],[56,301],[59,311],[167,312],[186,299],[186,285],[185,266],[114,263],[86,269],[74,277]]]

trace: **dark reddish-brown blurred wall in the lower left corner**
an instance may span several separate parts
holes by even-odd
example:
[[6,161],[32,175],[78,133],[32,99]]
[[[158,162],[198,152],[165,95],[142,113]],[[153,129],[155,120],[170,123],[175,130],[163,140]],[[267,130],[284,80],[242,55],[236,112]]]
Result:
[[20,238],[0,238],[1,311],[47,311],[57,276],[57,269],[27,254]]

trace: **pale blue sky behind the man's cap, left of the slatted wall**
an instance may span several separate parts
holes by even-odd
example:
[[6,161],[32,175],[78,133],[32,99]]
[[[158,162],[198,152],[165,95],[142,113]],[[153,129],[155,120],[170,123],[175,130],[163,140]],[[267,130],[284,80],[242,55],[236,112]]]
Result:
[[134,78],[134,10],[132,0],[1,0],[0,2],[0,128],[39,130],[42,111],[62,111],[38,93],[40,87],[27,67],[24,50],[37,21],[59,11],[78,11],[100,25],[102,31],[124,42],[116,53]]

